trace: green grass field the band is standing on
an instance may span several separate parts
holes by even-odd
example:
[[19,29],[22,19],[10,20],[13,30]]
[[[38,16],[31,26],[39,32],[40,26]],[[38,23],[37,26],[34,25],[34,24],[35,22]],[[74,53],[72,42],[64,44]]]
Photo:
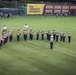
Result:
[[[20,42],[16,40],[17,28],[23,31],[24,24],[34,31],[34,40]],[[0,18],[0,30],[7,25],[8,31],[14,30],[13,41],[0,49],[0,75],[76,75],[76,17],[56,16],[17,16],[10,19]],[[50,49],[49,41],[37,41],[36,29],[45,31],[63,30],[66,42],[54,41],[54,49]],[[72,41],[68,43],[68,32],[72,32]],[[28,35],[29,37],[29,35]]]

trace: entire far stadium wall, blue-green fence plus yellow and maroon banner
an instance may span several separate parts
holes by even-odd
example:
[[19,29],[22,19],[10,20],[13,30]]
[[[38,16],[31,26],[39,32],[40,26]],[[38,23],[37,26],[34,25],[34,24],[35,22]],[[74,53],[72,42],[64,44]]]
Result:
[[12,15],[46,15],[69,14],[76,15],[75,4],[27,4],[17,8],[0,8],[0,16],[10,13]]

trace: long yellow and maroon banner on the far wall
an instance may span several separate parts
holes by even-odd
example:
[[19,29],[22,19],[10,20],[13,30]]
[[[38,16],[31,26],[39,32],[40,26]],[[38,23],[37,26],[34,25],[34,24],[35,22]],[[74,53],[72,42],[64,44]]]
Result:
[[76,14],[72,4],[27,4],[27,14]]

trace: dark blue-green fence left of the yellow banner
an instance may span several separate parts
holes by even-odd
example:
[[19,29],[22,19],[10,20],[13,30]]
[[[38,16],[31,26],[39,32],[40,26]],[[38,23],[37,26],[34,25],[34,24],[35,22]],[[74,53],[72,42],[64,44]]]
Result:
[[0,16],[5,16],[11,13],[11,15],[26,15],[27,7],[18,6],[17,8],[0,8]]

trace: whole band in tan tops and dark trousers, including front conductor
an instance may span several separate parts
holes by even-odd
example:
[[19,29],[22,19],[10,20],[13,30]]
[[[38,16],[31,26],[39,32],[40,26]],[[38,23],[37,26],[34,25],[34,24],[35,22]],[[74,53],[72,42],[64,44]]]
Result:
[[[63,31],[61,31],[60,33],[58,31],[55,31],[55,30],[53,30],[52,32],[50,30],[45,32],[42,29],[42,31],[41,31],[41,39],[42,40],[44,40],[45,33],[46,33],[47,40],[50,41],[50,48],[51,49],[53,48],[53,41],[54,40],[56,40],[56,42],[58,41],[59,34],[60,34],[60,41],[65,42],[66,36],[65,36],[65,33]],[[19,28],[17,29],[16,35],[17,35],[17,41],[20,41],[21,31]],[[27,40],[27,35],[28,35],[28,31],[26,28],[24,28],[23,29],[23,36],[24,36],[25,41]],[[30,31],[29,31],[30,40],[33,40],[33,35],[34,35],[33,30],[32,30],[32,28],[30,28]],[[37,40],[39,40],[39,35],[40,35],[40,31],[39,31],[39,29],[37,29],[37,31],[36,31],[36,39]],[[0,47],[2,46],[2,42],[4,43],[4,45],[7,43],[8,36],[9,36],[9,41],[12,42],[13,30],[10,30],[10,32],[7,32],[7,30],[2,32],[2,35],[0,35]],[[69,32],[69,34],[68,34],[68,42],[69,43],[71,42],[71,32]]]

